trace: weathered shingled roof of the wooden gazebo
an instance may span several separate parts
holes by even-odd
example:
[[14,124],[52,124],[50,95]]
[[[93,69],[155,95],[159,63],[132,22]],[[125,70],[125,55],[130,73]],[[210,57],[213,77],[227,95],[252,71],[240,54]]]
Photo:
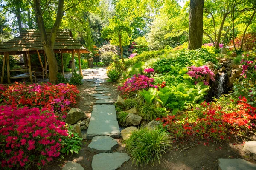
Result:
[[[46,33],[47,36],[50,36],[51,30],[47,30]],[[0,54],[3,54],[3,52],[9,52],[9,55],[25,54],[26,51],[30,51],[30,54],[34,54],[37,50],[40,53],[44,51],[38,30],[22,31],[19,37],[15,37],[0,44]],[[61,50],[63,53],[71,53],[72,50],[76,52],[80,50],[80,53],[90,53],[80,42],[74,40],[70,30],[59,30],[57,32],[54,52],[60,53]]]

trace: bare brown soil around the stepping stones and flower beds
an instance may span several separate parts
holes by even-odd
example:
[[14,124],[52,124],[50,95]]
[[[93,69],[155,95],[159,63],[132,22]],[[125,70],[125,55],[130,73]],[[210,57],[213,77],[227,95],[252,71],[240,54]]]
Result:
[[[94,77],[86,76],[86,79],[93,79]],[[97,77],[99,78],[99,77]],[[102,79],[107,78],[106,76],[101,77]],[[85,102],[93,101],[92,96],[88,93],[95,93],[92,85],[93,82],[84,82],[83,85],[78,86],[80,91],[80,97],[78,102],[78,108],[85,111],[88,116],[92,111],[92,106],[84,106]],[[104,88],[110,88],[110,93],[113,99],[117,98],[119,92],[116,83],[106,82],[103,84]],[[255,140],[255,139],[254,139]],[[68,161],[75,161],[81,164],[85,170],[92,170],[91,163],[95,153],[90,153],[87,150],[90,140],[84,140],[79,154],[74,153],[73,155],[64,156],[61,159],[52,161],[44,170],[61,170],[62,167]],[[118,139],[119,147],[115,150],[117,152],[125,152],[125,146],[122,144],[122,139]],[[177,144],[178,143],[178,144]],[[183,150],[183,148],[193,147]],[[195,143],[182,143],[175,142],[173,147],[170,148],[166,153],[163,153],[160,164],[155,162],[154,165],[146,165],[144,167],[135,167],[130,159],[128,162],[122,164],[119,170],[218,170],[218,158],[241,158],[247,161],[256,163],[249,155],[243,151],[243,143],[239,142],[205,142],[197,141]],[[180,152],[183,150],[182,152]]]

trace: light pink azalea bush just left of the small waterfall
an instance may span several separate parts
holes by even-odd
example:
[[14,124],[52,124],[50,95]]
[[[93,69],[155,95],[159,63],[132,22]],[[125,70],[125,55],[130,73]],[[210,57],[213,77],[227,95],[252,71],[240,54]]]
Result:
[[[203,65],[201,67],[195,67],[192,65],[191,67],[188,67],[188,70],[187,74],[189,74],[190,77],[195,78],[197,82],[205,80],[207,75],[209,75],[209,78],[212,81],[215,81],[215,75],[207,65]],[[209,85],[209,82],[204,81],[204,84]]]

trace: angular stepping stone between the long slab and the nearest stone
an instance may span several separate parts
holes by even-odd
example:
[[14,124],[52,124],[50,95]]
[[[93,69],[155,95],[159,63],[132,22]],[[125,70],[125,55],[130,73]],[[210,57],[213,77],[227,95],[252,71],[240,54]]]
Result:
[[95,136],[88,145],[87,150],[91,153],[110,153],[118,147],[116,139],[110,136]]

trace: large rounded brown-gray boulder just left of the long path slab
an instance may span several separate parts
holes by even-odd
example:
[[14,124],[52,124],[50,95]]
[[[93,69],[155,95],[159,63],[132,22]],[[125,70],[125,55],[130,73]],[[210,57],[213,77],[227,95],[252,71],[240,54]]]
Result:
[[84,120],[84,119],[86,119],[86,114],[84,113],[84,111],[81,111],[78,108],[72,108],[67,113],[67,117],[65,119],[65,122],[67,124],[75,124],[79,120]]

